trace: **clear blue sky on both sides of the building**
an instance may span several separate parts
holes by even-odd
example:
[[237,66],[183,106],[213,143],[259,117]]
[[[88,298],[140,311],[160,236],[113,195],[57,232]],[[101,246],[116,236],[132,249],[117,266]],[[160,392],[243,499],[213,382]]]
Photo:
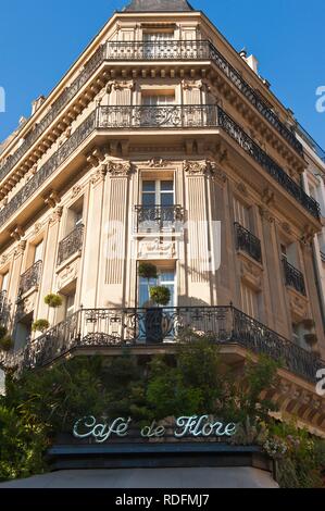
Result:
[[[0,17],[0,140],[29,116],[32,100],[48,95],[115,10],[128,0],[11,0]],[[325,86],[324,0],[191,0],[232,45],[260,61],[272,90],[325,148],[325,112],[315,108]]]

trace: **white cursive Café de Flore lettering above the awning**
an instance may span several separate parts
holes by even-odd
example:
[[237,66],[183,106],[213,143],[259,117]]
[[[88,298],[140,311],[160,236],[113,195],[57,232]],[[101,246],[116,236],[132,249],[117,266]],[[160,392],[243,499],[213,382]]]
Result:
[[[126,438],[130,433],[133,420],[130,417],[118,417],[114,421],[97,421],[95,416],[79,419],[73,428],[73,435],[79,439],[93,439],[96,444],[103,444],[114,436]],[[230,437],[236,434],[235,423],[214,422],[210,415],[191,415],[175,419],[172,426],[175,438],[221,438]],[[166,427],[155,421],[139,431],[141,438],[163,438]]]

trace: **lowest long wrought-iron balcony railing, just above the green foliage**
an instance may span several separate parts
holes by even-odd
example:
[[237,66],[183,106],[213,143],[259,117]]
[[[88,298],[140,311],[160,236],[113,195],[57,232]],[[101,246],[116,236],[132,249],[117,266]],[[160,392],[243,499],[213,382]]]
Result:
[[205,334],[211,342],[238,344],[254,353],[265,353],[279,361],[284,369],[310,382],[315,382],[316,372],[324,367],[324,362],[314,353],[232,306],[80,310],[29,342],[12,359],[3,358],[0,363],[36,369],[75,350],[93,352],[105,348],[166,347],[176,341],[188,342],[189,332]]

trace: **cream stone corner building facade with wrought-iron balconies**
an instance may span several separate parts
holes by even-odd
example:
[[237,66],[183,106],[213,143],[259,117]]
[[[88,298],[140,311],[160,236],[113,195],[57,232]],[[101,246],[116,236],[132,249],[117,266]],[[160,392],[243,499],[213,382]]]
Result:
[[[133,1],[2,146],[0,309],[15,340],[2,366],[173,350],[191,327],[234,366],[284,360],[271,397],[324,435],[324,204],[302,186],[308,163],[253,57],[184,0]],[[138,276],[148,261],[171,290],[160,311]]]

